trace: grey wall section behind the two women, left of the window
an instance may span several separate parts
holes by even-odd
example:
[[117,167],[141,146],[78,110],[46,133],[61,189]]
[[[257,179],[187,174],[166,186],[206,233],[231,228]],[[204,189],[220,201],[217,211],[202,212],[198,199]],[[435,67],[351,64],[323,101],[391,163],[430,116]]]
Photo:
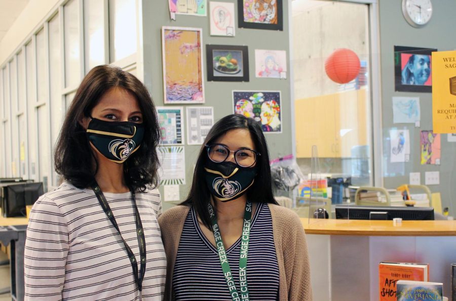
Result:
[[[283,1],[284,30],[257,30],[237,27],[237,1],[220,0],[220,2],[235,3],[236,36],[210,36],[209,16],[176,15],[176,21],[170,20],[167,1],[142,0],[143,6],[143,44],[144,44],[144,83],[152,94],[154,103],[163,106],[163,72],[162,72],[162,26],[197,27],[203,29],[203,68],[205,75],[206,103],[202,106],[214,107],[214,119],[233,112],[233,90],[265,90],[281,91],[282,93],[282,133],[265,134],[268,141],[271,158],[292,153],[291,149],[291,101],[290,101],[290,66],[287,66],[287,79],[256,78],[255,49],[285,50],[289,57],[288,1]],[[208,1],[209,6],[209,1]],[[215,45],[245,45],[249,48],[249,82],[207,81],[206,44]],[[185,105],[179,105],[184,106]],[[185,110],[184,110],[185,112]],[[184,120],[186,116],[184,113]],[[186,135],[186,133],[185,133]],[[186,141],[186,138],[185,138]],[[180,186],[180,199],[183,200],[192,183],[194,165],[200,146],[185,145],[186,185]],[[163,194],[163,187],[161,188]],[[164,209],[169,205],[163,202]]]

